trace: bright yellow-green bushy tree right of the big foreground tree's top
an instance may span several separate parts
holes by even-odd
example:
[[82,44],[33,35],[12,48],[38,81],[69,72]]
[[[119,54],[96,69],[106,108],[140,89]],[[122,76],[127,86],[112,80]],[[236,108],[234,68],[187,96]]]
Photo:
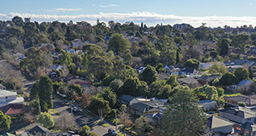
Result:
[[218,91],[216,87],[210,85],[203,85],[193,90],[193,93],[198,95],[203,93],[207,100],[218,100]]

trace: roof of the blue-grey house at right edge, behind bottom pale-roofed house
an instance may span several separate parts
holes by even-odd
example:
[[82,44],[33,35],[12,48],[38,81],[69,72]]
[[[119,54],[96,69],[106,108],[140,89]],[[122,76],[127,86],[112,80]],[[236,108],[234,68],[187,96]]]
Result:
[[242,117],[243,119],[253,118],[256,117],[256,112],[243,107],[238,107],[238,109],[230,108],[230,109],[222,109],[218,110],[219,112],[233,114],[238,117]]

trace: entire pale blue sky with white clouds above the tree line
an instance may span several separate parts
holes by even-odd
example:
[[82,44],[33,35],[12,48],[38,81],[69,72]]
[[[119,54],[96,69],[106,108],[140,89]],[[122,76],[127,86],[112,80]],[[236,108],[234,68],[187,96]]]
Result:
[[0,20],[256,26],[256,0],[0,0]]

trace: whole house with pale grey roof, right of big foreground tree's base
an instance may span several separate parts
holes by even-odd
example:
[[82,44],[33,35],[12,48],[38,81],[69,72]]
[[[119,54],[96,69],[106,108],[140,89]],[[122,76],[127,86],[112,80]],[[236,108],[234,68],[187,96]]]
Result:
[[208,118],[207,130],[211,134],[232,134],[234,124],[235,123],[229,121],[228,119],[223,119],[218,116],[212,116]]

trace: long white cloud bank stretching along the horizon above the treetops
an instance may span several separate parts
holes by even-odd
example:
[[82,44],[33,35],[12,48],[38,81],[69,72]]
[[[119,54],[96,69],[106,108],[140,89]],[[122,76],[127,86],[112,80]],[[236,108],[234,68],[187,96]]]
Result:
[[147,26],[155,26],[156,24],[170,24],[176,23],[189,23],[193,27],[199,27],[202,23],[207,23],[207,27],[223,27],[228,25],[230,27],[237,27],[243,25],[256,24],[256,17],[180,17],[175,15],[162,15],[154,12],[132,12],[132,13],[103,13],[98,14],[85,14],[85,15],[48,15],[48,14],[24,14],[17,12],[10,12],[8,14],[0,13],[0,20],[12,20],[13,17],[31,17],[32,21],[37,22],[52,22],[58,20],[59,22],[73,22],[85,21],[90,22],[93,25],[96,20],[100,22],[134,22],[134,23],[146,23]]

